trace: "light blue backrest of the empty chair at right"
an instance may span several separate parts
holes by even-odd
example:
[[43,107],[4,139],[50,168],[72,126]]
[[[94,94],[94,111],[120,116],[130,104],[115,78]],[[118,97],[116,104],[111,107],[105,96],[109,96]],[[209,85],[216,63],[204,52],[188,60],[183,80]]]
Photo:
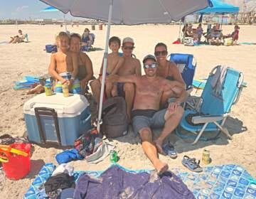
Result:
[[201,95],[203,102],[200,112],[203,114],[217,115],[230,112],[230,108],[236,101],[242,85],[242,72],[228,68],[225,74],[225,80],[223,80],[223,84],[221,85],[220,93],[216,95],[211,85],[214,77],[213,72],[216,68],[213,68],[212,72],[210,72],[206,87]]

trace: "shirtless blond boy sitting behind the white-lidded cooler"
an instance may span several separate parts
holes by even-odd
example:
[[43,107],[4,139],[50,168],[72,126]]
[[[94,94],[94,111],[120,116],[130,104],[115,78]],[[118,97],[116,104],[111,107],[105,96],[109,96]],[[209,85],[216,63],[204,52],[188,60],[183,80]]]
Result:
[[55,92],[62,92],[62,85],[68,84],[71,93],[80,93],[78,74],[78,56],[69,50],[70,36],[68,33],[60,32],[56,37],[58,52],[50,57],[49,74],[56,80]]

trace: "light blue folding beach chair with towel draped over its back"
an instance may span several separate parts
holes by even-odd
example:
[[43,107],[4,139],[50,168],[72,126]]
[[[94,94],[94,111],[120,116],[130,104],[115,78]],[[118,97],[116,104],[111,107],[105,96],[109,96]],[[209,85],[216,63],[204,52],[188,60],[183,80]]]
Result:
[[[193,144],[203,134],[203,131],[223,131],[231,139],[228,129],[224,128],[226,118],[233,104],[238,102],[240,93],[244,85],[242,72],[228,68],[223,75],[221,84],[216,88],[213,87],[213,78],[218,70],[217,66],[210,72],[206,87],[201,95],[201,106],[192,110],[186,109],[180,126],[187,131],[197,134]],[[197,109],[197,110],[196,110]],[[181,135],[176,129],[176,133]]]

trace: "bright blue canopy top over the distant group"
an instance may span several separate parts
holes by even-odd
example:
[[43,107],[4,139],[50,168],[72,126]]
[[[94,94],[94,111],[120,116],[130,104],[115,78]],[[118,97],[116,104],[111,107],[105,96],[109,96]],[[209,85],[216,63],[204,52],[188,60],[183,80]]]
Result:
[[212,7],[207,7],[206,9],[197,11],[196,13],[205,14],[205,13],[237,13],[239,7],[227,4],[220,0],[210,0],[213,4]]

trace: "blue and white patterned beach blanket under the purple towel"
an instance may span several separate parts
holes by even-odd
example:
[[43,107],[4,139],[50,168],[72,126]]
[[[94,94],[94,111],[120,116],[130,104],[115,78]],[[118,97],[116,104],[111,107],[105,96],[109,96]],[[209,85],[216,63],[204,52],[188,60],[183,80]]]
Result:
[[[149,170],[132,171],[119,166],[129,173],[149,173]],[[40,192],[38,189],[53,173],[53,163],[46,163],[38,173],[23,199],[36,199]],[[242,166],[228,164],[220,166],[207,166],[202,173],[183,172],[180,168],[171,169],[183,183],[188,186],[195,198],[256,198],[256,184],[252,176]],[[104,171],[75,171],[75,181],[84,173],[99,177]],[[255,181],[255,180],[254,180]],[[100,198],[99,198],[100,199]]]

